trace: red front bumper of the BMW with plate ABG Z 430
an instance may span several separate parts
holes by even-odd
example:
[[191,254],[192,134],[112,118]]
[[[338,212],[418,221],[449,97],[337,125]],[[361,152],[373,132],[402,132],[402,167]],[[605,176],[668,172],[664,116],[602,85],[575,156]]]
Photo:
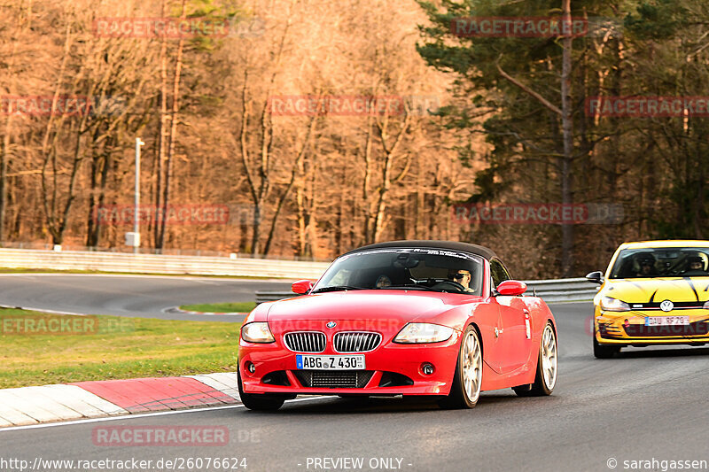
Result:
[[[363,354],[366,370],[316,371],[328,374],[345,372],[347,375],[359,373],[355,387],[312,386],[312,381],[308,382],[308,373],[315,371],[296,368],[296,352],[287,349],[280,337],[270,344],[253,344],[242,340],[239,344],[238,368],[245,393],[448,395],[456,368],[459,342],[460,333],[457,331],[448,341],[432,344],[393,344],[391,337],[384,337],[377,349]],[[328,344],[324,352],[316,355],[343,354],[334,352]],[[253,363],[253,374],[245,368],[248,363]],[[424,374],[424,363],[433,365],[432,374]]]

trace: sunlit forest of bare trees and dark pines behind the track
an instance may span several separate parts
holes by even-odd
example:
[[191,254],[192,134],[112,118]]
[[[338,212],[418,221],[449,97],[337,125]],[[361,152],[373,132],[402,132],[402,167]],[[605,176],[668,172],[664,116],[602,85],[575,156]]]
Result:
[[[138,27],[166,18],[197,30]],[[460,19],[585,27],[462,34]],[[140,137],[142,203],[191,214],[147,212],[142,251],[332,259],[447,239],[519,278],[584,275],[623,241],[706,236],[706,109],[589,104],[701,101],[708,58],[702,0],[0,0],[0,241],[129,250],[129,219],[105,215],[133,205]],[[298,100],[328,112],[283,107]],[[456,217],[540,204],[610,213]]]

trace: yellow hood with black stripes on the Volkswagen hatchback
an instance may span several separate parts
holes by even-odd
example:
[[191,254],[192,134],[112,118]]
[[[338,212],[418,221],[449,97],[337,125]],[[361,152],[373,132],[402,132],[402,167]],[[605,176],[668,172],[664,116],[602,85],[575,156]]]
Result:
[[618,298],[626,303],[705,302],[709,299],[709,277],[656,277],[652,279],[607,280],[598,297]]

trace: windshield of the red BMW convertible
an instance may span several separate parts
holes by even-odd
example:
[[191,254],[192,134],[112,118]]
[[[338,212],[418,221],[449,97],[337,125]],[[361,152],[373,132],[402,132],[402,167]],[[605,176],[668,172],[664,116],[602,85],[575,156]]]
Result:
[[331,290],[426,290],[482,294],[482,258],[442,249],[382,248],[335,260],[313,293]]

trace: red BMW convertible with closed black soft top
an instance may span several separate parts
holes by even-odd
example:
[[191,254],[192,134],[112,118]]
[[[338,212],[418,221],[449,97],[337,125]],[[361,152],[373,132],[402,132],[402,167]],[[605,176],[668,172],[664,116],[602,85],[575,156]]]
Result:
[[336,259],[300,297],[264,303],[241,327],[238,389],[247,408],[296,395],[417,395],[471,408],[480,391],[549,395],[557,329],[495,252],[393,241]]

